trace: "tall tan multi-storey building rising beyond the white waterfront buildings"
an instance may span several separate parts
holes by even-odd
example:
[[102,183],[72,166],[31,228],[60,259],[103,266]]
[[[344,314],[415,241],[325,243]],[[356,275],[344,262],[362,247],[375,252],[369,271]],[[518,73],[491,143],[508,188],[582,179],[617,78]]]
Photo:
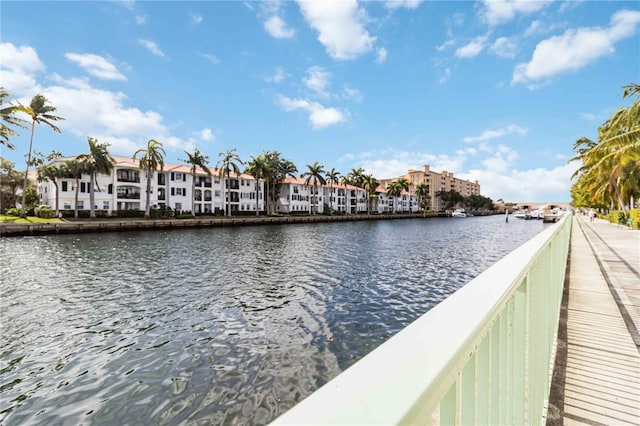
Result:
[[455,177],[452,172],[448,172],[446,170],[441,173],[434,172],[427,164],[423,166],[422,170],[409,169],[409,171],[402,176],[390,179],[380,179],[379,182],[382,187],[386,188],[389,183],[402,178],[411,183],[411,194],[415,192],[416,186],[420,184],[427,185],[427,188],[429,189],[429,196],[431,197],[428,210],[444,210],[444,203],[441,202],[440,197],[437,196],[439,191],[455,190],[463,197],[480,195],[480,184],[477,180],[471,182],[468,179],[460,179]]

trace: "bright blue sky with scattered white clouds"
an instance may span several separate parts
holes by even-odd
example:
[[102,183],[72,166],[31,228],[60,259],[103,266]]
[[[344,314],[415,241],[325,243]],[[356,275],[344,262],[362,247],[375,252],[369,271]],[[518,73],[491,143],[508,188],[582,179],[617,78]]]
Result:
[[[637,1],[11,1],[0,84],[57,107],[34,149],[215,166],[279,151],[378,179],[428,164],[512,202],[569,201],[580,137],[640,83]],[[29,131],[0,148],[24,170]]]

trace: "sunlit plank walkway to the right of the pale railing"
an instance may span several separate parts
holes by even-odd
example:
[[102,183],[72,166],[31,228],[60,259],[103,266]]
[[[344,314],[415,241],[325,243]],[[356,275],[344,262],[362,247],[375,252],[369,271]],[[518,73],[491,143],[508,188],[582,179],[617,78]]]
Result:
[[640,425],[640,232],[573,220],[547,425]]

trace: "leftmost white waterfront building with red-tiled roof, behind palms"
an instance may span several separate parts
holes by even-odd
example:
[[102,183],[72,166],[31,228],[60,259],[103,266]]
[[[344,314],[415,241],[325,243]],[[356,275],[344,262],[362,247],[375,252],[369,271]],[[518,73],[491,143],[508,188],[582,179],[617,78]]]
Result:
[[[51,164],[62,164],[75,157],[60,158]],[[110,175],[98,174],[94,188],[95,209],[111,215],[117,210],[145,210],[147,176],[140,170],[138,162],[128,157],[113,156],[114,169]],[[192,176],[186,165],[165,163],[162,171],[156,170],[151,176],[151,196],[149,203],[155,207],[171,207],[176,212],[213,213],[224,211],[228,201],[232,212],[256,211],[256,181],[248,174],[231,174],[229,183],[230,199],[226,200],[226,179],[219,170],[210,168],[211,176],[198,169],[195,176],[195,202],[192,205]],[[78,186],[78,210],[89,210],[91,177],[83,173],[76,179],[69,175],[57,179],[58,194],[53,182],[38,182],[37,189],[43,204],[55,208],[56,197],[61,210],[76,208],[75,195]],[[264,181],[258,181],[258,210],[264,211]]]

